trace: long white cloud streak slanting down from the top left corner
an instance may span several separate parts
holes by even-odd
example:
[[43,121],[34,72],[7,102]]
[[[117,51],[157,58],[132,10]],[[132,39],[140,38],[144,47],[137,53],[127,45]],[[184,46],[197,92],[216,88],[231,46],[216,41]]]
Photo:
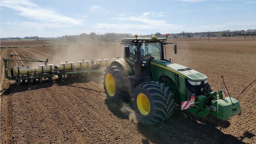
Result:
[[35,21],[68,24],[71,26],[82,24],[82,21],[79,19],[73,19],[68,16],[59,15],[52,9],[42,8],[26,0],[1,1],[1,7],[8,7],[15,11],[18,11],[18,15],[24,16]]

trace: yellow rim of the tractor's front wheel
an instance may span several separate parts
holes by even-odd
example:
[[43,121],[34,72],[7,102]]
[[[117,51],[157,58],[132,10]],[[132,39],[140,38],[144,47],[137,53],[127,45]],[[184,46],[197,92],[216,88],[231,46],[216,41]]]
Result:
[[148,115],[150,111],[149,99],[145,94],[139,94],[137,97],[137,106],[142,115]]

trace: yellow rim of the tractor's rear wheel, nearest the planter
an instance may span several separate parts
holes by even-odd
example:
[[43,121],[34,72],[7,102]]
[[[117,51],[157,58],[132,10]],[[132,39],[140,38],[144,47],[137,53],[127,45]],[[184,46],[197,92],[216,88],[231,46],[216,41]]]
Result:
[[115,83],[115,79],[110,73],[107,73],[106,75],[105,85],[106,85],[107,93],[109,94],[109,96],[113,97],[116,93],[116,83]]

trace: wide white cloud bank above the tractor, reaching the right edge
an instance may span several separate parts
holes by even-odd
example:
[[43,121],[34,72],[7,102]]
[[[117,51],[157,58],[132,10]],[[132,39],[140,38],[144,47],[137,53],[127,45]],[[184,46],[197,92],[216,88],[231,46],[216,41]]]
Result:
[[[106,23],[98,23],[96,26],[91,27],[91,29],[96,29],[96,31],[113,31],[113,32],[133,32],[138,33],[140,35],[143,34],[151,34],[155,32],[160,33],[179,33],[182,31],[187,32],[202,32],[202,31],[222,31],[226,29],[230,30],[237,30],[237,29],[245,29],[246,27],[255,27],[255,22],[230,22],[230,23],[223,23],[223,24],[213,24],[213,25],[198,25],[193,26],[191,25],[178,25],[178,24],[171,24],[167,22],[165,19],[153,19],[151,15],[156,13],[153,12],[145,12],[140,16],[127,16],[124,17],[119,16],[118,18],[112,18],[118,21],[125,21],[126,24],[106,24]],[[162,14],[162,12],[159,12]],[[122,22],[121,22],[122,23]],[[234,29],[231,29],[234,28]],[[103,33],[102,32],[102,33]],[[133,34],[132,33],[132,34]]]

